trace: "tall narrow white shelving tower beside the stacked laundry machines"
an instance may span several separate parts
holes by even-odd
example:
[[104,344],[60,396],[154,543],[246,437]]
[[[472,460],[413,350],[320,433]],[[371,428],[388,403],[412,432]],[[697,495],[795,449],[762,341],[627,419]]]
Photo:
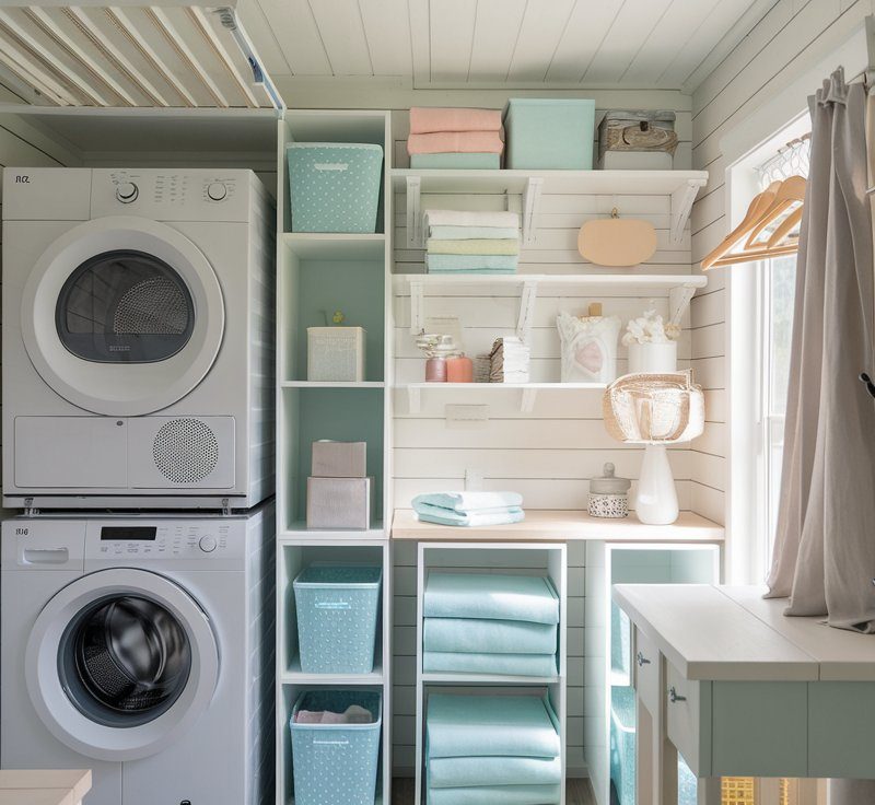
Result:
[[[375,805],[392,792],[392,558],[385,513],[392,512],[392,192],[382,185],[377,232],[291,231],[285,164],[289,142],[372,142],[392,153],[386,112],[287,112],[279,124],[277,194],[277,805],[293,805],[289,720],[302,691],[362,688],[383,697],[383,734]],[[366,377],[359,383],[306,380],[306,327],[343,310],[364,326]],[[319,320],[319,317],[323,320]],[[315,439],[368,442],[368,472],[376,480],[375,516],[365,530],[312,530],[305,483]],[[313,562],[373,564],[383,570],[374,667],[369,674],[310,674],[301,668],[293,582]]]

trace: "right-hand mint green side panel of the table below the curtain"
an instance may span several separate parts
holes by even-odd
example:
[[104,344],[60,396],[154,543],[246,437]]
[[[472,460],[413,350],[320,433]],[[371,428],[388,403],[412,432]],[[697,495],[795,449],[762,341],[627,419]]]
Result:
[[875,682],[808,682],[808,775],[875,778]]

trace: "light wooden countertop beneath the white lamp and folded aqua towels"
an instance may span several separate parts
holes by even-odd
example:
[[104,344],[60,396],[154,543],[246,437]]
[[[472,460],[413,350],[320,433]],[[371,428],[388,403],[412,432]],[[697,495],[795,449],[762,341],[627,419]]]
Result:
[[393,539],[420,541],[556,542],[595,539],[607,542],[722,542],[724,528],[692,512],[681,512],[672,525],[644,525],[634,514],[618,520],[591,517],[585,511],[526,511],[522,523],[458,527],[421,523],[411,509],[396,509]]

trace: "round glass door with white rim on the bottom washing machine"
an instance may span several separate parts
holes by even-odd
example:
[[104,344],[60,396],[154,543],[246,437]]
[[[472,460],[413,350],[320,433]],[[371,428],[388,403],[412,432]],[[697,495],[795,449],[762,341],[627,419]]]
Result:
[[24,662],[49,731],[100,760],[165,749],[209,707],[219,678],[203,609],[170,579],[136,569],[97,571],[59,591]]

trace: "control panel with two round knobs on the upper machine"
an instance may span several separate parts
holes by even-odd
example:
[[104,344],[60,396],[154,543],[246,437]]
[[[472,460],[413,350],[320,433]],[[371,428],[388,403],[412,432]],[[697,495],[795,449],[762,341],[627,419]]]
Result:
[[243,171],[95,168],[91,217],[246,221],[250,191],[250,174]]

